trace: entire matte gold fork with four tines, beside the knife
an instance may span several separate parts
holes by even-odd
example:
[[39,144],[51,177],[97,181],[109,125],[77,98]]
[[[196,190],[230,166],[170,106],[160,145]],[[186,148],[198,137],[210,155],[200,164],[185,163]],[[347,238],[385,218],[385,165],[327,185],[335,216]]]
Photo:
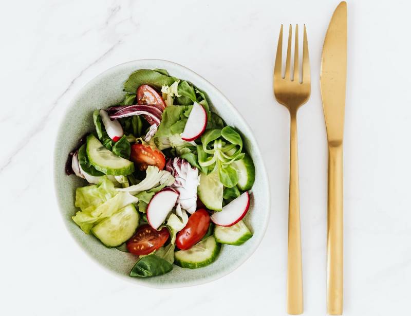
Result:
[[279,31],[274,66],[274,95],[278,103],[288,108],[291,117],[290,192],[288,204],[288,256],[287,256],[287,313],[303,313],[303,271],[301,259],[300,193],[298,189],[297,110],[306,103],[311,93],[310,61],[308,59],[307,31],[304,25],[303,73],[299,80],[298,25],[295,26],[294,76],[291,78],[290,24],[285,77],[282,75],[283,25]]

